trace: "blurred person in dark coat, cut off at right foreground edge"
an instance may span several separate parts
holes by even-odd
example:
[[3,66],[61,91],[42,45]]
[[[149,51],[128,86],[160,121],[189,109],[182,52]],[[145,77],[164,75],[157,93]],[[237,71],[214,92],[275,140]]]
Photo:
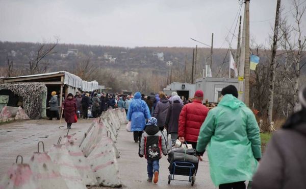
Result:
[[273,132],[252,188],[306,188],[306,87],[299,90],[298,100],[301,109]]

